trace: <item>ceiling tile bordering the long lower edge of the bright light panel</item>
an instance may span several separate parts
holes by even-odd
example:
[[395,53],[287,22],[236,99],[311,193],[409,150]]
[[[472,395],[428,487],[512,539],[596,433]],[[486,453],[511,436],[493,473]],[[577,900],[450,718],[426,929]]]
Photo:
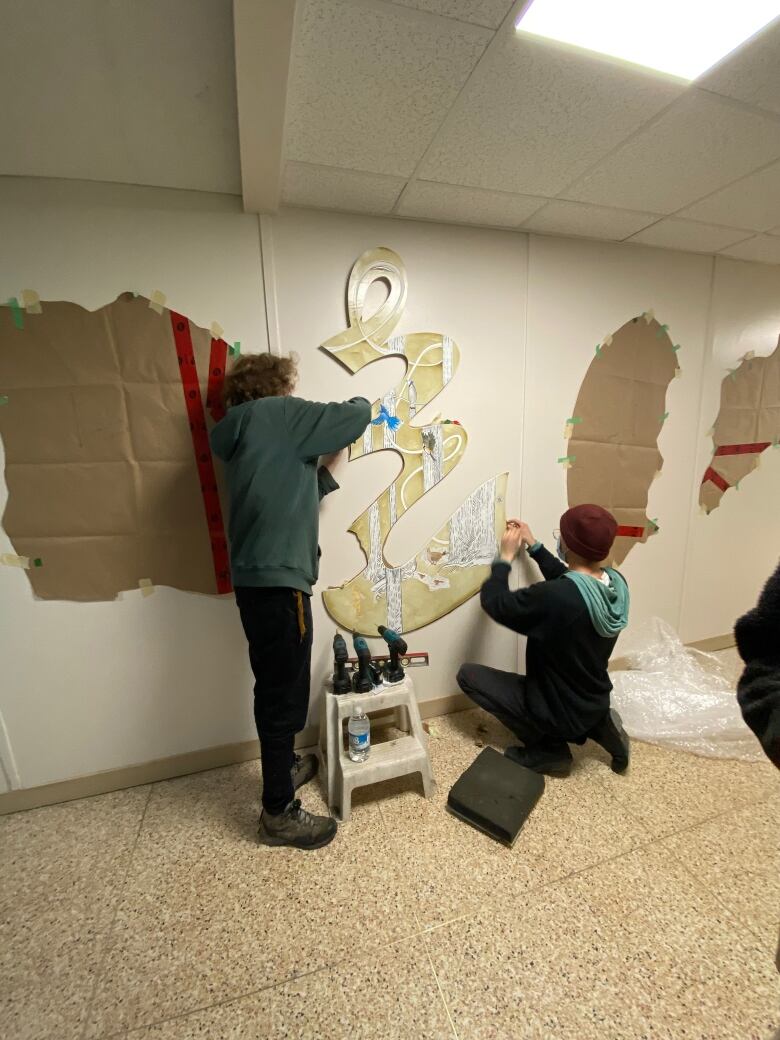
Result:
[[419,176],[549,197],[681,89],[640,70],[508,33],[479,62]]

